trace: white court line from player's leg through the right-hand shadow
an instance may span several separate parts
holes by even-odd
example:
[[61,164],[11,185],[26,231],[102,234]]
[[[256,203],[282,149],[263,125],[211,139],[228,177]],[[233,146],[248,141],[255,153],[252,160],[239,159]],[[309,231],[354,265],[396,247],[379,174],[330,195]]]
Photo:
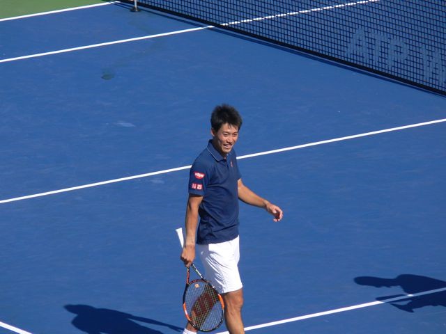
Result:
[[[286,324],[286,323],[293,322],[293,321],[300,321],[300,320],[305,320],[305,319],[310,319],[310,318],[315,318],[315,317],[322,317],[324,315],[332,315],[334,313],[357,310],[358,308],[369,308],[370,306],[374,306],[374,305],[393,303],[395,301],[402,301],[403,299],[415,298],[415,297],[419,297],[419,296],[424,296],[426,294],[436,294],[437,292],[443,292],[443,291],[446,291],[446,287],[442,287],[440,289],[429,290],[429,291],[425,291],[425,292],[419,292],[417,294],[406,294],[404,296],[399,296],[399,297],[390,298],[390,299],[384,299],[383,301],[372,301],[371,303],[364,303],[364,304],[359,304],[359,305],[348,306],[346,308],[337,308],[336,310],[329,310],[329,311],[325,311],[325,312],[313,313],[312,315],[302,315],[300,317],[284,319],[284,320],[279,320],[279,321],[272,321],[272,322],[268,322],[267,324],[249,326],[249,327],[245,328],[245,331],[252,331],[253,329],[277,326],[277,325],[282,325],[282,324]],[[220,332],[217,334],[229,334],[229,332]]]

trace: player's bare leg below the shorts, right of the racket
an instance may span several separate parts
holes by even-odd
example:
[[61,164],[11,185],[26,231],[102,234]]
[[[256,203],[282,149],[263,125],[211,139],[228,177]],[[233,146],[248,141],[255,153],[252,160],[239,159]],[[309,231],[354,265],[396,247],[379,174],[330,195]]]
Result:
[[244,334],[242,320],[243,289],[222,294],[224,301],[224,319],[230,334]]

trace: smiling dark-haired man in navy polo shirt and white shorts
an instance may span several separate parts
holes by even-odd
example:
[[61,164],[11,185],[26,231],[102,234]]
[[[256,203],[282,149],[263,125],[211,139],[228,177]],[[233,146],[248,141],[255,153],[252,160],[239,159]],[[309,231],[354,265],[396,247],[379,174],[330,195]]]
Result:
[[[242,182],[233,150],[242,126],[238,111],[227,104],[216,106],[210,125],[212,139],[190,169],[186,238],[180,258],[189,267],[199,253],[206,279],[222,294],[226,328],[231,334],[241,334],[245,330],[241,316],[243,285],[238,272],[238,200],[263,207],[274,221],[280,221],[283,212]],[[196,332],[187,324],[183,334]]]

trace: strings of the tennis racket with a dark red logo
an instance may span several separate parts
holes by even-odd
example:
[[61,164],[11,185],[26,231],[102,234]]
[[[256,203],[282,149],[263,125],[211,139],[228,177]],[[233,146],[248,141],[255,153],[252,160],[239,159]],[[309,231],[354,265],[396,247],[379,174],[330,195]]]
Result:
[[220,297],[210,285],[197,280],[185,292],[185,312],[190,323],[201,331],[211,331],[222,323],[223,308]]

